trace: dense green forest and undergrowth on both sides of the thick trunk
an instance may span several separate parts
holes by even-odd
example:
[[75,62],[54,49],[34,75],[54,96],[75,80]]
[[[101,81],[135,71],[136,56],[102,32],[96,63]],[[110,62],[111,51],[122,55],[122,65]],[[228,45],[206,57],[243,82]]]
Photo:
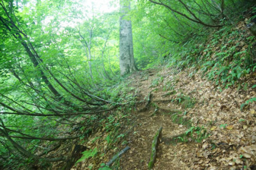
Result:
[[[0,5],[0,169],[51,167],[66,156],[48,152],[101,127],[120,140],[116,122],[137,102],[130,74],[120,75],[119,2],[107,11],[79,0]],[[138,70],[193,67],[222,90],[255,72],[255,14],[249,0],[139,0],[124,19]]]

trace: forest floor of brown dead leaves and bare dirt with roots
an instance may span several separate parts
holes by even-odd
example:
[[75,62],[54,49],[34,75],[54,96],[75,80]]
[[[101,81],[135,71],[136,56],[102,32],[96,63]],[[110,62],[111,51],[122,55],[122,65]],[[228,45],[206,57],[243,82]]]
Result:
[[[241,110],[241,104],[256,96],[256,74],[245,77],[246,86],[240,89],[218,90],[201,72],[191,72],[151,69],[127,78],[140,104],[129,115],[133,121],[123,124],[128,132],[123,140],[130,150],[118,161],[119,169],[148,169],[152,140],[160,127],[153,169],[256,169],[255,103]],[[149,107],[141,110],[149,94]],[[97,144],[99,148],[105,143]],[[110,160],[116,152],[105,157]],[[86,169],[90,161],[73,169]]]

